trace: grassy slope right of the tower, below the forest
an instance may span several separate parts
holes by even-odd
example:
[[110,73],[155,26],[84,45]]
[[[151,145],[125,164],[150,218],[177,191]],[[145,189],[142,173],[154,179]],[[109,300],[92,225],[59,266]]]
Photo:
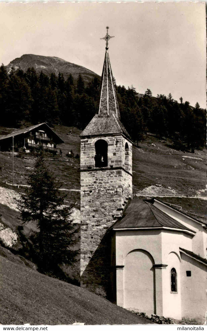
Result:
[[206,150],[192,154],[173,148],[172,140],[160,141],[154,135],[139,143],[139,148],[133,148],[133,194],[153,184],[170,186],[178,194],[192,196],[196,195],[196,191],[205,189]]

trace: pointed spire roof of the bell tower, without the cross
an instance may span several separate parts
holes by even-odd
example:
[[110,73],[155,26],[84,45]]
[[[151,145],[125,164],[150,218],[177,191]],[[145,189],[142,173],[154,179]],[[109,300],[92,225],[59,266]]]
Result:
[[116,88],[111,70],[109,53],[106,49],[100,83],[97,113],[80,134],[80,137],[102,134],[123,133],[130,138],[120,120]]

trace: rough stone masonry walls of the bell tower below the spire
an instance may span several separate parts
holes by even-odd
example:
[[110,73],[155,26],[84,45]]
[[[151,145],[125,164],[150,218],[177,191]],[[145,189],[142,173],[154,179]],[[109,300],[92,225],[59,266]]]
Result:
[[[94,144],[100,137],[81,140],[80,283],[82,287],[102,287],[107,292],[112,278],[111,234],[107,230],[122,215],[131,198],[132,176],[125,171],[124,137],[101,138],[108,143],[108,167],[105,168],[95,168],[94,162]],[[131,160],[129,141],[128,145]]]

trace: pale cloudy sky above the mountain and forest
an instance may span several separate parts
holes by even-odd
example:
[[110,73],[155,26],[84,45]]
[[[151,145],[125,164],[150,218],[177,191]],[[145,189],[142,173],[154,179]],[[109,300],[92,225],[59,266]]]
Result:
[[57,56],[101,75],[106,34],[117,85],[206,108],[203,2],[0,3],[0,63]]

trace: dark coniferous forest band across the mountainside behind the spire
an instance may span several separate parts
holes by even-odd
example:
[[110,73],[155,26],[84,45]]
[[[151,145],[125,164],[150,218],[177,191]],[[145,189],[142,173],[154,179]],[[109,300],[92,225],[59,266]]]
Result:
[[[99,84],[94,78],[87,86],[81,75],[75,82],[72,75],[67,79],[62,73],[50,76],[37,74],[34,68],[26,72],[12,69],[9,74],[0,67],[1,126],[18,127],[22,120],[37,124],[62,124],[84,129],[97,108]],[[158,94],[152,97],[148,88],[138,96],[133,86],[126,89],[116,86],[121,120],[133,141],[147,138],[147,132],[160,139],[172,138],[177,148],[202,148],[206,141],[206,110],[198,102],[194,107],[189,102],[179,102]]]

